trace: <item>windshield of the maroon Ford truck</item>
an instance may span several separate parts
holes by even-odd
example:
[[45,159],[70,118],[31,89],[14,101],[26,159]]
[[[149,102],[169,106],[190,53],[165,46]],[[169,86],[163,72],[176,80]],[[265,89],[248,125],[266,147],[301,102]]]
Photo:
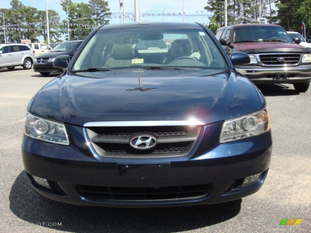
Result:
[[292,42],[286,31],[278,25],[247,25],[234,28],[233,43],[262,41]]

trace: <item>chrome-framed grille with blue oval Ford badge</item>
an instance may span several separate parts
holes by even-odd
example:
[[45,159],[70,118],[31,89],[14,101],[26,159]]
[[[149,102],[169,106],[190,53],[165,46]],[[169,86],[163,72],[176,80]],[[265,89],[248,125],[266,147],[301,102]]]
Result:
[[260,61],[266,66],[294,66],[298,65],[300,61],[299,53],[272,53],[260,54]]

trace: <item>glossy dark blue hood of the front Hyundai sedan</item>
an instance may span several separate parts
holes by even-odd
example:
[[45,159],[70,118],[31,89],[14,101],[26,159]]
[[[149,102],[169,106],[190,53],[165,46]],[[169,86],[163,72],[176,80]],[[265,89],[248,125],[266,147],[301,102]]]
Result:
[[28,111],[80,126],[94,121],[190,119],[208,124],[265,105],[257,88],[235,72],[184,77],[174,76],[180,71],[163,72],[172,75],[154,77],[147,72],[111,77],[104,72],[100,74],[109,78],[90,78],[65,74],[44,86]]

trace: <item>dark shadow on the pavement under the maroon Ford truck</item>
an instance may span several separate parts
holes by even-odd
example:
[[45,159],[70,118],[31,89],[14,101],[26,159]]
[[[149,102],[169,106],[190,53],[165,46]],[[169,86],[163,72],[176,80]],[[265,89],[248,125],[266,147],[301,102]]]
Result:
[[257,84],[256,86],[264,96],[299,95],[295,89],[282,84]]

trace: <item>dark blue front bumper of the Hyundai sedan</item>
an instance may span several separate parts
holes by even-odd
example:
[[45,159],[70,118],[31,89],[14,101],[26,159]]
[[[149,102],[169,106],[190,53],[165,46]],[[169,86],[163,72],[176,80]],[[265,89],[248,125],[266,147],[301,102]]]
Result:
[[[205,126],[205,130],[219,129],[221,125],[220,122]],[[81,133],[80,127],[66,128],[72,134]],[[25,171],[39,194],[65,203],[106,207],[227,202],[260,189],[272,154],[268,131],[258,137],[225,144],[210,145],[198,139],[191,153],[175,158],[96,158],[83,143],[80,133],[71,137],[69,146],[24,135]],[[255,183],[240,187],[245,177],[258,173],[262,175]],[[32,176],[47,179],[53,188],[38,185]]]

